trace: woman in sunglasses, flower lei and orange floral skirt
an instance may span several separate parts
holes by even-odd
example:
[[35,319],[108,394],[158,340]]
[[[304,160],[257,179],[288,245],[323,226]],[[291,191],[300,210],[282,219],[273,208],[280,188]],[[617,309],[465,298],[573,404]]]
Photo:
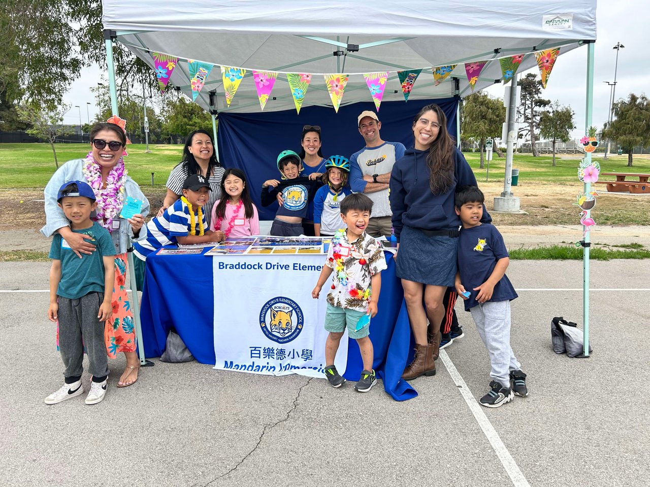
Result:
[[[70,221],[57,205],[57,191],[66,181],[85,181],[90,184],[97,197],[96,216],[92,219],[110,232],[116,249],[115,284],[112,300],[112,315],[106,322],[105,340],[110,358],[123,352],[126,368],[118,381],[118,387],[134,384],[138,379],[140,361],[135,351],[135,323],[126,293],[127,248],[144,225],[144,217],[149,212],[149,201],[142,194],[140,186],[127,175],[122,156],[127,144],[126,122],[113,116],[108,123],[97,123],[90,131],[90,152],[83,159],[74,159],[63,164],[45,186],[45,226],[44,236],[58,232],[70,249],[83,258],[96,251],[92,238],[75,233],[70,229]],[[122,206],[127,197],[142,201],[142,209],[132,218],[120,218]],[[58,340],[57,340],[58,342]]]

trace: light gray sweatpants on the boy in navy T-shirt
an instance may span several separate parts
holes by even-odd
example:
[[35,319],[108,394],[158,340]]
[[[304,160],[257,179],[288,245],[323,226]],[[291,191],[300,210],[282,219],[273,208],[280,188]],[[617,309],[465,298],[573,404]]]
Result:
[[490,377],[510,387],[510,372],[521,368],[510,348],[510,301],[483,303],[469,311],[487,348],[492,366]]

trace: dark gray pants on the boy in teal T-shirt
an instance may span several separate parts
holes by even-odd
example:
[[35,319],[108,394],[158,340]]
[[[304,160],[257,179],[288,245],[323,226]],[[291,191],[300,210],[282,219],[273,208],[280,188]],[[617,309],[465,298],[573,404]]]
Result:
[[83,373],[83,347],[86,345],[90,372],[95,377],[109,375],[109,358],[104,342],[104,321],[99,321],[99,305],[104,293],[92,292],[79,299],[59,296],[59,350],[65,377]]

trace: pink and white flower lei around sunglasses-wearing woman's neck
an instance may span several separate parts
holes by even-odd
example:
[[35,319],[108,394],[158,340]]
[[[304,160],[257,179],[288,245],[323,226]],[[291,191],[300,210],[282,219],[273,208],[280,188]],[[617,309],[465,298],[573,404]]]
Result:
[[83,175],[97,198],[96,221],[112,232],[112,221],[120,214],[124,204],[124,183],[127,171],[124,168],[123,158],[120,157],[114,168],[110,169],[106,178],[106,188],[101,187],[101,166],[95,162],[92,152],[89,152],[84,160]]

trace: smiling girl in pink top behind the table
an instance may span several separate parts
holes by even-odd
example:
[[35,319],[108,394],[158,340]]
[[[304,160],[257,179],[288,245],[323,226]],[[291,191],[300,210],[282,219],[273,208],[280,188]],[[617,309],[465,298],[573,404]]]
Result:
[[259,235],[259,216],[246,186],[246,175],[236,168],[226,169],[221,183],[223,197],[212,210],[210,229],[226,238]]

